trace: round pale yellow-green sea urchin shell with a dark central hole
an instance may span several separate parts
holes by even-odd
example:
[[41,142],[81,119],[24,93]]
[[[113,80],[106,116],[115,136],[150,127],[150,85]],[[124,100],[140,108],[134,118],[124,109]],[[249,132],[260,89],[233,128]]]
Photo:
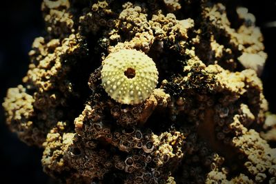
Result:
[[101,84],[108,95],[124,104],[143,102],[156,88],[155,62],[137,50],[119,50],[103,60]]

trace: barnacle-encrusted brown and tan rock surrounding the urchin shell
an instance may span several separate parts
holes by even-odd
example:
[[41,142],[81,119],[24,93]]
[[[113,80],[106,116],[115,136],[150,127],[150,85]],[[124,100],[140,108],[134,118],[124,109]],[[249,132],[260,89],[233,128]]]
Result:
[[[45,0],[42,11],[47,34],[34,40],[23,84],[8,90],[3,107],[10,129],[44,148],[50,176],[276,183],[276,123],[258,78],[266,53],[246,8]],[[157,87],[135,104],[112,99],[103,86],[106,59],[126,50],[152,59],[159,73]]]

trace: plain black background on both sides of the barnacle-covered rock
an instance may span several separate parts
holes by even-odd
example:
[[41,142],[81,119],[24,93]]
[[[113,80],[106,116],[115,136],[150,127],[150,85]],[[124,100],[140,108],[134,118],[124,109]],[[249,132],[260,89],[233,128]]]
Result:
[[[233,1],[233,0],[232,0]],[[255,14],[264,34],[268,60],[262,74],[264,94],[270,111],[276,113],[276,1],[239,1]],[[3,1],[0,5],[0,104],[8,88],[21,83],[28,70],[28,52],[35,37],[45,34],[40,11],[41,0]],[[266,23],[275,21],[275,26]],[[43,150],[28,147],[11,133],[5,124],[0,105],[0,183],[53,183],[43,173]]]

